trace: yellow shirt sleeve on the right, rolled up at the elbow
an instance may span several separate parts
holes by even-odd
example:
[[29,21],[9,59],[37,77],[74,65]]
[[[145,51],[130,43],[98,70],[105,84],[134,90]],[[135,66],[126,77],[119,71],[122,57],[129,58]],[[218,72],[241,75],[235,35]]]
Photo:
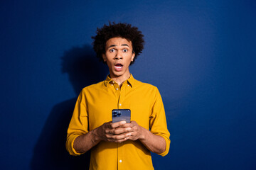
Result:
[[165,156],[169,152],[171,140],[169,139],[170,133],[167,129],[166,115],[164,111],[164,104],[161,99],[159,90],[156,88],[154,96],[154,104],[152,106],[151,116],[149,118],[150,131],[161,137],[166,141],[166,149],[163,153],[159,154]]

